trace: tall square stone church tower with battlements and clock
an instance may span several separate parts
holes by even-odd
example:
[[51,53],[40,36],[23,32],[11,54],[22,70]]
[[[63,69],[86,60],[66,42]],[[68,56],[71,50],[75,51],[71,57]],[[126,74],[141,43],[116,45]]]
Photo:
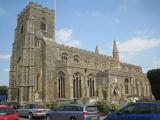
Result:
[[[43,37],[54,41],[55,12],[30,2],[18,15],[10,63],[9,100],[34,102],[42,86]],[[39,95],[40,96],[40,95]],[[42,100],[41,97],[39,97]]]

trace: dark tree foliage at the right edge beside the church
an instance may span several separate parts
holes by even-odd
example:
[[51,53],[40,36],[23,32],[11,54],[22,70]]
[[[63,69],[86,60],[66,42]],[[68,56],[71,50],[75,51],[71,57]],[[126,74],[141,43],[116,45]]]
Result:
[[153,69],[147,72],[152,93],[156,100],[160,100],[160,69]]

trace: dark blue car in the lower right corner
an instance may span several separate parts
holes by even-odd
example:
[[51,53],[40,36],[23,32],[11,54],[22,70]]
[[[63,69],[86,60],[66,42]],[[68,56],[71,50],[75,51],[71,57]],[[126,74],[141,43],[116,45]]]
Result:
[[160,102],[129,103],[104,120],[160,120]]

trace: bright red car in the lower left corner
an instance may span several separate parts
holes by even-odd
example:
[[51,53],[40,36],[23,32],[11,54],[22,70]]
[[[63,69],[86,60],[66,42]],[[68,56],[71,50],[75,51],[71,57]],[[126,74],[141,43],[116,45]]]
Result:
[[19,120],[19,119],[13,107],[0,105],[0,120]]

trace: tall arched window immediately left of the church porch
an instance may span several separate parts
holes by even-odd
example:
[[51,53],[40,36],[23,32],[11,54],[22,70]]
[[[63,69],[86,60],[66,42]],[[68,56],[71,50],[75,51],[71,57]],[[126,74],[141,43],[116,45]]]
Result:
[[87,83],[88,83],[88,87],[89,87],[89,96],[93,97],[95,96],[95,88],[94,88],[94,84],[95,84],[95,76],[93,74],[88,75],[87,77]]

